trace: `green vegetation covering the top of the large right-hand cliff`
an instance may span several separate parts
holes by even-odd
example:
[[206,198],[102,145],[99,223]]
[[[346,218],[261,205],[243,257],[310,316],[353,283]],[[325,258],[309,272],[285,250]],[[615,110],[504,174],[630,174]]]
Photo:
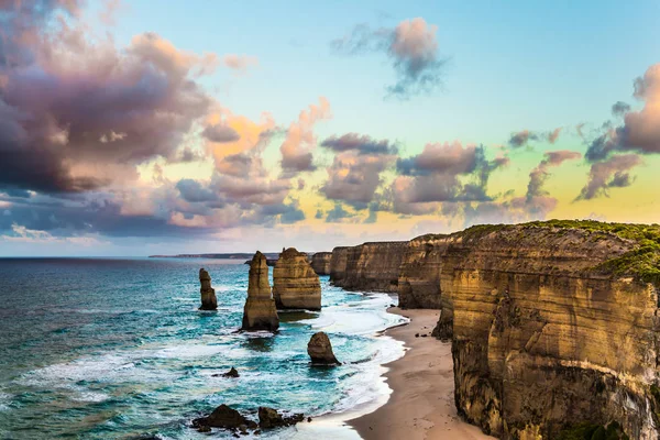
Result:
[[581,229],[594,234],[602,234],[603,239],[606,239],[608,234],[613,234],[625,240],[631,240],[636,243],[635,249],[594,268],[615,275],[631,275],[645,283],[653,283],[660,286],[660,224],[606,223],[595,220],[548,220],[532,221],[519,226],[479,224],[466,229],[463,233],[465,237],[476,238],[517,227]]

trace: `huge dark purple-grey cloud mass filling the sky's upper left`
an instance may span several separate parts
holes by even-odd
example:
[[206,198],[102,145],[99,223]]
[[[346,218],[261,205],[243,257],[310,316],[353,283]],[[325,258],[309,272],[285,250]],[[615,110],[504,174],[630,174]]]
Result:
[[151,33],[118,50],[78,28],[77,7],[0,2],[0,188],[76,193],[133,178],[135,164],[174,157],[209,108],[189,79],[206,57]]

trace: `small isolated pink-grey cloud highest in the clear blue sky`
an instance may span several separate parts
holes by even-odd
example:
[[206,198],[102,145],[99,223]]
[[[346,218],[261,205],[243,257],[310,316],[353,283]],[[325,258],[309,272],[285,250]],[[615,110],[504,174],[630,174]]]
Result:
[[349,35],[334,40],[331,45],[344,55],[387,54],[397,76],[397,81],[387,86],[387,92],[407,99],[432,92],[441,85],[447,61],[439,58],[437,31],[438,26],[427,24],[422,18],[404,20],[396,28],[376,30],[359,24]]

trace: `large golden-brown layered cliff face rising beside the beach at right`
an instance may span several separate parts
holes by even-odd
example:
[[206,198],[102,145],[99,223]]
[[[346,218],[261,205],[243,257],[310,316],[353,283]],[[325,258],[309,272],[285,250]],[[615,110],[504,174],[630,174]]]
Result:
[[658,290],[606,263],[638,248],[549,226],[414,240],[402,301],[442,308],[435,333],[452,339],[459,413],[503,439],[613,420],[631,439],[658,439]]

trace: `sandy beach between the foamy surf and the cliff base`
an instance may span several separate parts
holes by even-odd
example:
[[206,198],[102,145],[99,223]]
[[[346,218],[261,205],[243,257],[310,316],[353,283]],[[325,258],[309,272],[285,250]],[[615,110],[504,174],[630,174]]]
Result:
[[[440,311],[398,308],[389,311],[411,319],[409,324],[386,332],[404,341],[408,349],[402,359],[386,365],[392,396],[374,413],[349,420],[348,425],[365,440],[493,439],[457,414],[451,343],[430,337]],[[420,337],[416,338],[416,333]]]

